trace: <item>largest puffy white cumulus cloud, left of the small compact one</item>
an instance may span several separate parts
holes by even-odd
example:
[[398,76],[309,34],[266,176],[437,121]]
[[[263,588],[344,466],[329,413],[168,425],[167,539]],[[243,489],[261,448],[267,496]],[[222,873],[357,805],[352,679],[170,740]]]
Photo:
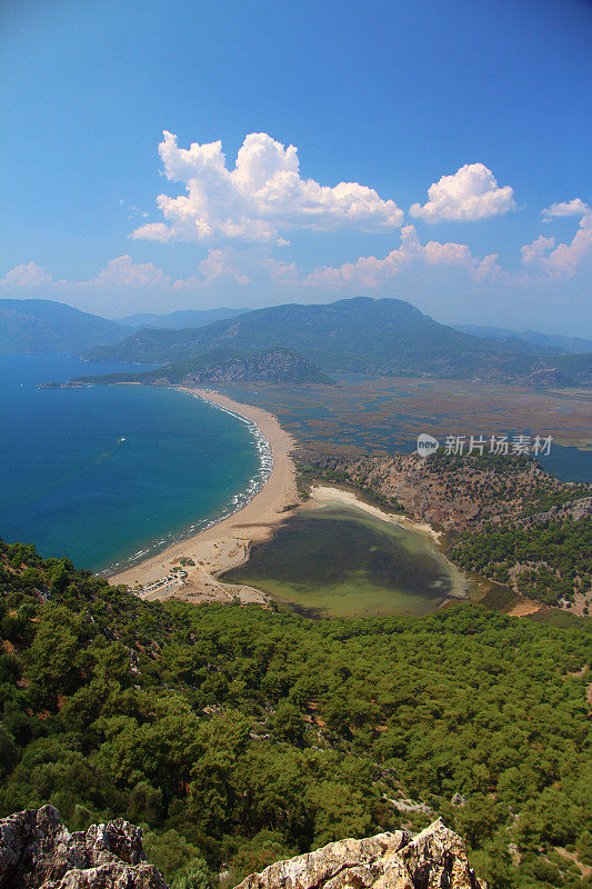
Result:
[[233,169],[221,141],[179,148],[164,130],[159,146],[167,178],[184,186],[179,197],[159,194],[164,221],[141,226],[132,238],[158,241],[237,239],[285,244],[280,232],[295,229],[388,231],[403,212],[393,200],[358,182],[321,186],[302,179],[298,149],[267,133],[245,137]]

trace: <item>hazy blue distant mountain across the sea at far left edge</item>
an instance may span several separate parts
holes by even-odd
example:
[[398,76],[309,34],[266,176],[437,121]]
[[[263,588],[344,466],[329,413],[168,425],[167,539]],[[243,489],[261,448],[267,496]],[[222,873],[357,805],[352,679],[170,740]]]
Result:
[[80,352],[120,342],[130,328],[49,299],[0,299],[1,352]]

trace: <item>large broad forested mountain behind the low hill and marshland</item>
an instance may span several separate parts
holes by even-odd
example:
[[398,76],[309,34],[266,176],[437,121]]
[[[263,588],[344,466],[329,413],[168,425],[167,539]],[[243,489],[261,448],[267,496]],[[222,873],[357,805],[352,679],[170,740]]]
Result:
[[[553,382],[580,378],[562,371],[565,356],[528,342],[462,333],[397,299],[347,299],[324,306],[258,309],[204,328],[140,330],[89,358],[170,364],[219,347],[243,350],[288,348],[328,371],[428,373],[488,380],[526,379],[541,368],[556,371]],[[590,366],[589,366],[590,367]]]

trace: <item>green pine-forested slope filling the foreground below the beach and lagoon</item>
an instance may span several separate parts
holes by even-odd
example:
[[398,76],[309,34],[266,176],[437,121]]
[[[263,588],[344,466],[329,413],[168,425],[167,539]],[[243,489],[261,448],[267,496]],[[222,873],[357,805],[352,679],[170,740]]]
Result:
[[584,626],[147,603],[32,547],[0,557],[2,813],[143,822],[178,887],[200,858],[235,885],[439,813],[491,887],[584,889]]

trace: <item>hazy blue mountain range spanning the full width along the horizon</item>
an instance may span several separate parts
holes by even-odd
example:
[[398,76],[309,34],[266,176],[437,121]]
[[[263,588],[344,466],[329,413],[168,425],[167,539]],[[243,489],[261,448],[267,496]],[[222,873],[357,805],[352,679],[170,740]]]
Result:
[[[191,326],[179,327],[184,323]],[[304,372],[311,381],[324,371],[525,382],[534,387],[592,384],[592,354],[583,351],[590,344],[586,340],[503,328],[458,329],[434,321],[400,299],[360,297],[251,311],[187,310],[129,316],[122,321],[53,300],[3,299],[0,327],[0,351],[74,352],[99,361],[164,366],[174,376],[181,371],[182,376],[203,376],[208,356],[207,361],[215,364],[283,349],[315,366],[304,372],[292,358],[295,377],[300,379]],[[183,367],[178,370],[180,364]],[[265,372],[281,376],[282,361],[273,370],[271,364],[273,361]],[[234,369],[227,371],[233,373]],[[243,367],[242,372],[251,379],[251,367]]]

